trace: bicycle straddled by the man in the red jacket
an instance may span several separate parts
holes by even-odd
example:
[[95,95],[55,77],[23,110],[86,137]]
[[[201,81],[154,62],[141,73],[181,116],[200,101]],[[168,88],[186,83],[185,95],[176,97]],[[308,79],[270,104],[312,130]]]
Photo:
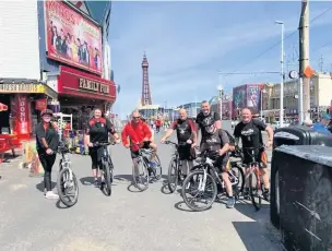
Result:
[[[149,144],[151,142],[146,142]],[[161,165],[161,159],[158,155],[155,155],[154,163],[156,164],[156,167],[151,167],[151,155],[153,154],[152,148],[142,148],[141,144],[131,144],[130,147],[139,146],[138,151],[138,157],[137,157],[137,169],[135,165],[132,167],[132,179],[133,184],[137,189],[139,189],[141,192],[145,191],[149,188],[150,183],[150,177],[154,177],[155,180],[159,180],[162,178],[163,169]],[[137,175],[137,172],[139,175]],[[145,181],[141,182],[142,179],[145,179]],[[141,188],[139,183],[142,183],[143,187]]]

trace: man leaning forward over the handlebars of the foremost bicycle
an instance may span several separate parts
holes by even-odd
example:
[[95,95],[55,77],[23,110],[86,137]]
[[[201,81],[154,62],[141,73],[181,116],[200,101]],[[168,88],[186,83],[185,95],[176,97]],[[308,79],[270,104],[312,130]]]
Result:
[[217,129],[215,123],[210,124],[205,128],[205,138],[204,141],[201,143],[201,153],[205,151],[209,152],[217,152],[218,157],[214,162],[214,166],[218,175],[222,177],[223,181],[225,182],[226,192],[228,194],[228,200],[226,206],[228,208],[233,208],[235,205],[235,198],[233,195],[233,188],[228,177],[229,170],[229,139],[227,133],[222,130]]

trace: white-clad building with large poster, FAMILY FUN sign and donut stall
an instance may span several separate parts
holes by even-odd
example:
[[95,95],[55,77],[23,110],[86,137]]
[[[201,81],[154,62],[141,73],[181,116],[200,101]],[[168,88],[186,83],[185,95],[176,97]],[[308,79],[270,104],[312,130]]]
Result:
[[115,103],[107,39],[110,2],[10,1],[0,8],[7,37],[0,41],[7,48],[0,62],[0,103],[10,107],[1,112],[0,128],[28,135],[39,110],[49,107],[75,115],[74,129],[83,129],[82,112]]

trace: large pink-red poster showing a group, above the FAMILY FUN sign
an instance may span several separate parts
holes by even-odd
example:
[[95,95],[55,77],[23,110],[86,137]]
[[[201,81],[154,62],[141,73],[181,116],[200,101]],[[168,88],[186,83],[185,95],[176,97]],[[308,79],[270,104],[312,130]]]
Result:
[[48,58],[102,75],[100,28],[62,1],[45,1]]

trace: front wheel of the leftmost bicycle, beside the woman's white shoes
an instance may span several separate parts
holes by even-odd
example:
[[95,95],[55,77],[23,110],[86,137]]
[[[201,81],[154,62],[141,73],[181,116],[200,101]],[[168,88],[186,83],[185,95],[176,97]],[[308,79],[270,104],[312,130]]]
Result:
[[76,176],[69,168],[62,168],[58,175],[57,189],[60,201],[68,207],[79,200],[79,183]]

